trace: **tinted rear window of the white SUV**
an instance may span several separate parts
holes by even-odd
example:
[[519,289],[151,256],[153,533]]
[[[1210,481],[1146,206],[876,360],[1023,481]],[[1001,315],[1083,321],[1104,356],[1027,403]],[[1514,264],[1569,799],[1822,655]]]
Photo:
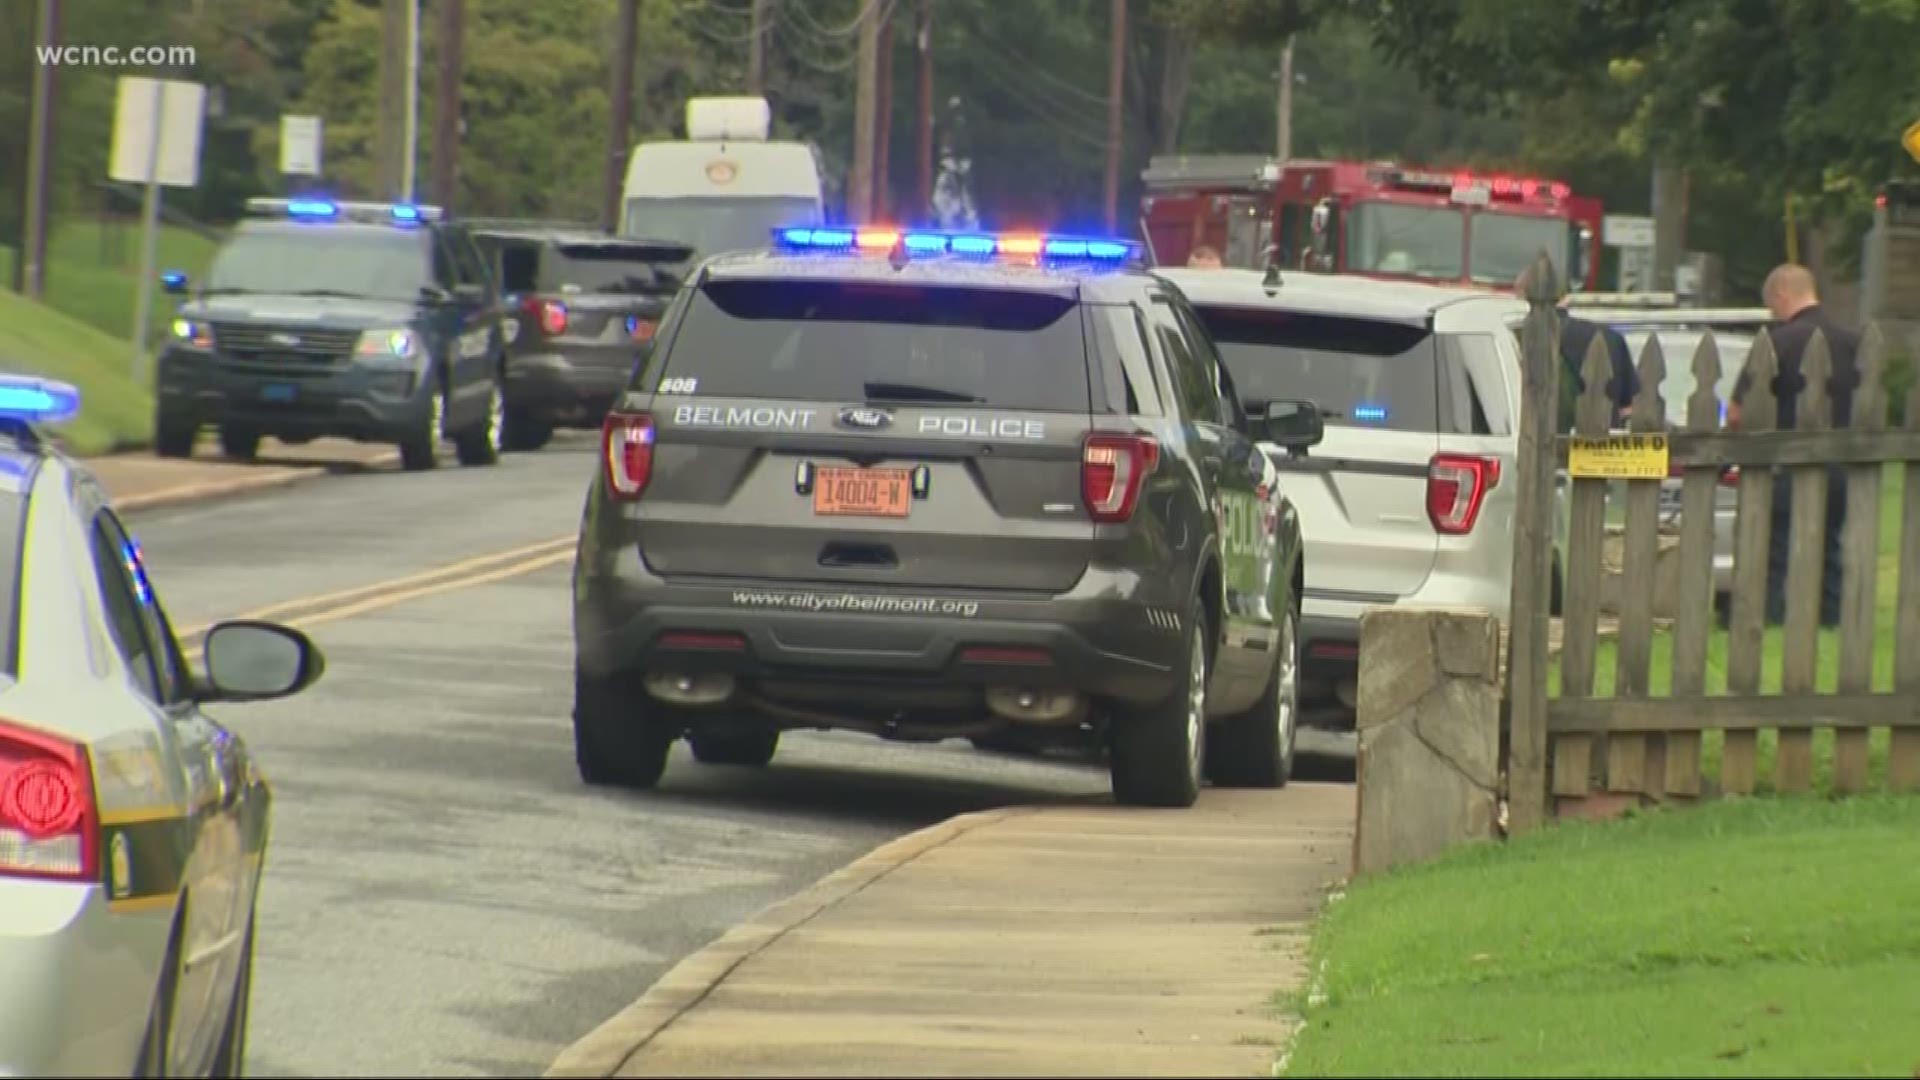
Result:
[[1438,429],[1438,365],[1425,327],[1273,309],[1196,311],[1242,402],[1308,400],[1331,425]]

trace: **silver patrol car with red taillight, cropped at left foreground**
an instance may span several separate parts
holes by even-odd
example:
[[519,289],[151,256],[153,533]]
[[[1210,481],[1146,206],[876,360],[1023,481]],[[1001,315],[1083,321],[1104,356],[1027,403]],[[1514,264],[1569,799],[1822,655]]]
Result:
[[298,630],[223,623],[188,665],[140,548],[0,375],[0,1076],[240,1076],[269,792],[202,713],[321,676]]

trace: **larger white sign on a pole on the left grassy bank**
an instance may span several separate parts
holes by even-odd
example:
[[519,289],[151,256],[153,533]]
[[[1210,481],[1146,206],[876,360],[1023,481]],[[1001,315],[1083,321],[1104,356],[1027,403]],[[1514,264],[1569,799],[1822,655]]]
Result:
[[140,206],[140,284],[132,313],[132,373],[146,380],[146,329],[154,309],[154,275],[159,246],[159,188],[190,188],[200,183],[200,123],[207,88],[175,79],[119,81],[113,110],[113,156],[108,175],[121,183],[146,184]]

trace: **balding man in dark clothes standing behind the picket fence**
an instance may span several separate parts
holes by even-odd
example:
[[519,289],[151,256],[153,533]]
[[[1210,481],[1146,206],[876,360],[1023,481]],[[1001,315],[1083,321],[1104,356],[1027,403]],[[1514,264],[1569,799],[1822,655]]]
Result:
[[[1799,396],[1807,388],[1801,363],[1807,346],[1818,332],[1826,338],[1828,356],[1834,361],[1834,377],[1828,380],[1828,400],[1832,402],[1832,427],[1836,430],[1853,427],[1853,390],[1860,384],[1859,350],[1860,334],[1841,327],[1820,306],[1812,273],[1795,263],[1782,263],[1766,275],[1761,286],[1761,300],[1772,311],[1776,323],[1766,329],[1774,356],[1780,361],[1780,375],[1774,379],[1774,398],[1780,402],[1780,430],[1793,430],[1799,423]],[[1726,404],[1728,427],[1740,427],[1740,398],[1749,386],[1747,373],[1740,373],[1734,384],[1734,400]],[[1774,473],[1774,513],[1772,538],[1766,546],[1766,621],[1786,621],[1788,592],[1788,530],[1793,523],[1793,475],[1788,469]],[[1847,525],[1847,469],[1826,471],[1826,544],[1820,573],[1820,625],[1839,623],[1839,536]]]

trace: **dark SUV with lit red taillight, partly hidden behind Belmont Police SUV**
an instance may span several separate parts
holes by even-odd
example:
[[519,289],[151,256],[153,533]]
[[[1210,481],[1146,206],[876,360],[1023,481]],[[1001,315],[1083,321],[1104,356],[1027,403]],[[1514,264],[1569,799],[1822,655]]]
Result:
[[693,248],[561,221],[468,221],[507,304],[507,450],[597,429]]

